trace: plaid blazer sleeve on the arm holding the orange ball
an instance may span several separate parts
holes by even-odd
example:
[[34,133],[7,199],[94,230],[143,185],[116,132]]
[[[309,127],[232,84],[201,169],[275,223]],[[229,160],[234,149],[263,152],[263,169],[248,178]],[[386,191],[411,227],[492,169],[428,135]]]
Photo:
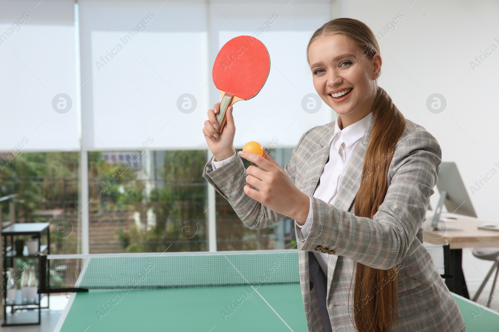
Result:
[[314,251],[320,245],[382,270],[398,265],[426,218],[442,161],[440,145],[427,131],[410,134],[398,150],[385,199],[373,219],[312,197],[312,227],[306,238],[296,233],[298,249]]

